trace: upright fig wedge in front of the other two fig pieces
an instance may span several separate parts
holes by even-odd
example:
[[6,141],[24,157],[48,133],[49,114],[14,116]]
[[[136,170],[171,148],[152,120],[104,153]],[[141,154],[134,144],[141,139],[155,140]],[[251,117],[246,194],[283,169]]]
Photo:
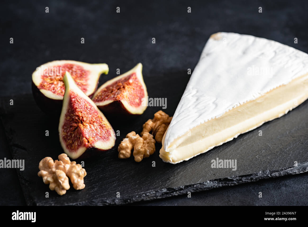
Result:
[[81,155],[91,156],[93,152],[90,151],[111,149],[115,145],[115,132],[105,116],[76,85],[69,72],[65,73],[63,81],[65,93],[59,138],[64,152],[77,159]]

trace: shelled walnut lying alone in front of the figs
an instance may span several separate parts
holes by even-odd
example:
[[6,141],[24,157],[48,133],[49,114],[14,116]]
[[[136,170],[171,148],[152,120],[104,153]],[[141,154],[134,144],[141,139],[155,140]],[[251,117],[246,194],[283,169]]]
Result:
[[49,184],[49,188],[59,195],[65,194],[70,188],[68,177],[76,190],[83,189],[85,187],[83,177],[87,175],[86,170],[80,164],[71,162],[66,154],[59,155],[58,159],[59,161],[54,161],[51,157],[45,157],[39,162],[38,175],[43,177],[43,182]]

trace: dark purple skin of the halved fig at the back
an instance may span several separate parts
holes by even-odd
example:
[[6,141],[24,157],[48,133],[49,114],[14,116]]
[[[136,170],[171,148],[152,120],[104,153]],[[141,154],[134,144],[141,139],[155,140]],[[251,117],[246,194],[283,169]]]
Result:
[[[91,95],[89,95],[90,98],[93,97],[95,91],[97,90],[98,82],[96,84],[96,87]],[[32,94],[34,97],[34,100],[36,104],[39,106],[39,108],[48,115],[61,115],[62,110],[62,99],[52,99],[45,96],[42,92],[40,92],[39,88],[34,84],[32,80]]]

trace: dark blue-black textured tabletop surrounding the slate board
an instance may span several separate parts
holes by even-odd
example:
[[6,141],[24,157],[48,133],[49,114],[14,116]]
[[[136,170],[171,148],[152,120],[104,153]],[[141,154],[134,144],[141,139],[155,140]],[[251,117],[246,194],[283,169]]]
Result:
[[[45,13],[46,6],[49,13]],[[120,14],[115,11],[117,6]],[[192,7],[190,14],[188,6]],[[258,13],[259,6],[262,13]],[[114,77],[116,68],[125,72],[142,62],[149,93],[155,89],[150,86],[155,80],[166,87],[166,93],[167,88],[182,93],[189,78],[169,81],[168,74],[174,78],[174,73],[193,69],[209,35],[217,31],[273,39],[308,52],[307,1],[10,1],[2,3],[0,13],[1,97],[31,93],[31,73],[56,59],[107,63],[110,73],[102,76],[101,83]],[[14,44],[9,43],[10,37]],[[85,44],[80,43],[81,37]],[[152,37],[156,44],[151,43]],[[295,37],[298,44],[294,44]],[[10,158],[3,130],[0,134],[0,158]],[[1,169],[0,177],[0,203],[25,204],[16,170]],[[307,205],[307,181],[308,175],[300,174],[146,204]],[[266,196],[257,198],[259,191]]]

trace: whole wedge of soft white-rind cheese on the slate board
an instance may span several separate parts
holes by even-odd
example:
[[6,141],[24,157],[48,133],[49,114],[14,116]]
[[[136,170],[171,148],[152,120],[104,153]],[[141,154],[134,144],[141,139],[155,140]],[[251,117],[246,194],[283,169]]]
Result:
[[251,35],[213,34],[164,134],[160,158],[188,160],[307,98],[306,53]]

